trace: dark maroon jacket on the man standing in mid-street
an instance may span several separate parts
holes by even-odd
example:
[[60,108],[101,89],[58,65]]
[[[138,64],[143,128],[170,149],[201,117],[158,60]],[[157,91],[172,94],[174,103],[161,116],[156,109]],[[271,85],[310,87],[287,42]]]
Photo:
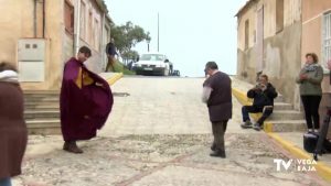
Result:
[[225,121],[232,118],[232,89],[229,77],[217,72],[204,83],[213,89],[207,101],[211,122]]

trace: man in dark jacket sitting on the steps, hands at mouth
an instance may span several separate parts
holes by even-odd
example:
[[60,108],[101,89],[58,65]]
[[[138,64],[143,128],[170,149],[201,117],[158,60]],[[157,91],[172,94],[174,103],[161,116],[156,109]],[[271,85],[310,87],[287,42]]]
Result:
[[[247,91],[247,97],[254,99],[253,106],[244,106],[243,112],[243,129],[254,128],[259,131],[263,128],[264,121],[273,113],[274,99],[278,96],[275,87],[268,83],[267,75],[260,75],[258,84]],[[263,116],[253,125],[249,119],[249,113],[263,112]]]

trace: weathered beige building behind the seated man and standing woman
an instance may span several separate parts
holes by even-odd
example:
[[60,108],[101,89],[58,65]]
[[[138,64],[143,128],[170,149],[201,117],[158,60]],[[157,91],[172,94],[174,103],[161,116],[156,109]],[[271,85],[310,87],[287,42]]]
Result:
[[[331,59],[331,1],[249,0],[236,17],[238,77],[255,83],[258,74],[269,75],[286,101],[299,109],[295,79],[305,54],[317,53],[323,66]],[[322,106],[331,103],[329,70],[324,73]]]

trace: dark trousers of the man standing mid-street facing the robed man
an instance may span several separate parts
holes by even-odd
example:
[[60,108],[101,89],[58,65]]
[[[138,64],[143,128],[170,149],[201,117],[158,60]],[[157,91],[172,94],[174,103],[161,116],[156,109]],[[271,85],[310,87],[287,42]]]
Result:
[[214,135],[214,145],[220,151],[225,151],[225,144],[224,144],[224,134],[227,127],[227,121],[220,121],[220,122],[213,122],[213,135]]

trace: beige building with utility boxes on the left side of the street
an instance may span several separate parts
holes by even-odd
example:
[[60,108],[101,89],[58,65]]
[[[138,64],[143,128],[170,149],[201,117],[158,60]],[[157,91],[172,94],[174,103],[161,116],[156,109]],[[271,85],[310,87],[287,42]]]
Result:
[[64,63],[86,45],[87,66],[102,72],[110,40],[110,18],[104,0],[0,1],[0,61],[19,67],[26,90],[56,90]]

